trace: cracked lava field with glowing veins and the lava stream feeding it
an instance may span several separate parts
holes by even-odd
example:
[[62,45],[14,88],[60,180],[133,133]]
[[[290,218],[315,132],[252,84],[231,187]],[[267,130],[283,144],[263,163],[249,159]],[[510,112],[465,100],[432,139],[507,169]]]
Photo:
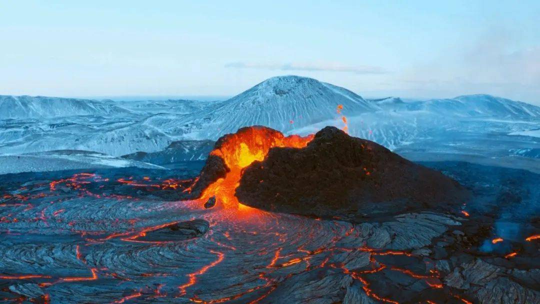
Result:
[[[443,280],[441,272],[450,269],[422,251],[461,225],[459,211],[351,224],[241,205],[233,194],[242,168],[273,146],[301,148],[311,139],[250,138],[212,152],[231,171],[200,199],[164,201],[136,192],[190,191],[191,179],[87,172],[1,193],[0,301],[473,302]],[[111,185],[133,194],[106,191]],[[213,195],[217,204],[204,208]]]

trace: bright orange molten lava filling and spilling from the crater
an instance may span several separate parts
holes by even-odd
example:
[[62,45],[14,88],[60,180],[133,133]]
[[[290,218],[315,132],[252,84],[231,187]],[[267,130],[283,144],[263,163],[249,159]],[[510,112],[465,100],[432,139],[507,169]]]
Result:
[[227,134],[222,138],[221,145],[214,148],[210,154],[223,159],[230,171],[224,178],[206,187],[200,199],[206,202],[215,195],[217,201],[225,207],[241,206],[234,191],[240,183],[242,170],[245,167],[255,160],[264,160],[273,147],[303,148],[313,137],[313,135],[285,137],[279,131],[261,126],[246,127],[238,130],[237,133]]

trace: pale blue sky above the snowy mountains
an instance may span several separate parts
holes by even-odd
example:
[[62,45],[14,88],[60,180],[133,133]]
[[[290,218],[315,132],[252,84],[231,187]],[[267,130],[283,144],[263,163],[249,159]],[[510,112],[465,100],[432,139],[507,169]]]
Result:
[[540,105],[540,1],[0,1],[0,94],[233,96],[300,75],[365,97]]

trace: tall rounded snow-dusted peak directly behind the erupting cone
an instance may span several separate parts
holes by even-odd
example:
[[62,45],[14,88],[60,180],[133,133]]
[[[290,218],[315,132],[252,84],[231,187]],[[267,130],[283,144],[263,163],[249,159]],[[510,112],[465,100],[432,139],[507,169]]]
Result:
[[178,117],[178,125],[193,138],[208,139],[251,125],[288,132],[323,120],[335,119],[339,124],[338,105],[343,105],[347,115],[379,110],[342,87],[312,78],[280,76],[255,85],[209,112]]

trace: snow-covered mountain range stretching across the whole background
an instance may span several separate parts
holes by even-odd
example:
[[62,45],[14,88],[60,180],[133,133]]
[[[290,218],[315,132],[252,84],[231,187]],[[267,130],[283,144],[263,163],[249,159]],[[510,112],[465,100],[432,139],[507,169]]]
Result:
[[338,105],[343,106],[350,134],[395,151],[515,156],[517,150],[540,148],[534,137],[540,129],[540,107],[534,105],[482,94],[363,99],[312,78],[281,76],[221,102],[3,96],[0,154],[77,149],[116,157],[159,151],[157,161],[200,158],[206,150],[178,156],[167,146],[174,141],[215,140],[249,125],[266,125],[286,134],[313,133],[327,125],[343,127]]

